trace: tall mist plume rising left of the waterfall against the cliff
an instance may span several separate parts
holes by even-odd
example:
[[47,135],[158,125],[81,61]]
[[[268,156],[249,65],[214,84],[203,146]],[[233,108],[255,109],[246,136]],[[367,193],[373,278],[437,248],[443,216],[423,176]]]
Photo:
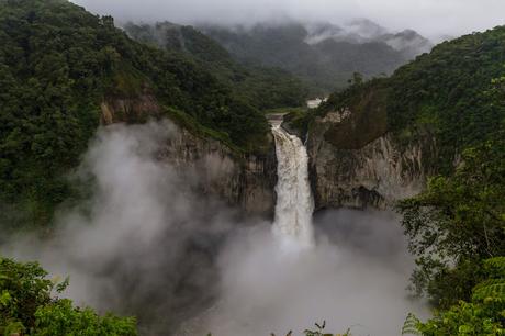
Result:
[[70,276],[65,295],[136,315],[148,335],[205,307],[216,294],[214,258],[234,212],[193,192],[197,172],[182,178],[157,159],[176,132],[169,122],[101,127],[72,178],[90,197],[58,210],[50,237],[22,233],[1,253]]

